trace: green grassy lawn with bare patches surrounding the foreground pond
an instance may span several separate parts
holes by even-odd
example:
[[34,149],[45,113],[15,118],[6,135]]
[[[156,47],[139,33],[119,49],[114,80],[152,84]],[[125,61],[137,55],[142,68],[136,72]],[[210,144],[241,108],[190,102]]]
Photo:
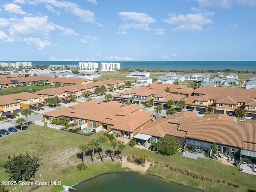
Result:
[[[101,162],[90,162],[87,158],[88,168],[78,171],[76,165],[81,162],[78,146],[81,143],[88,143],[91,139],[97,139],[99,132],[91,136],[82,136],[70,132],[54,130],[37,125],[30,125],[28,130],[18,132],[0,138],[0,162],[5,163],[7,157],[12,154],[24,154],[28,151],[42,158],[39,170],[36,172],[34,181],[50,182],[61,181],[62,185],[75,185],[83,180],[94,178],[100,174],[109,172],[126,171],[122,168],[120,161],[113,164],[110,160]],[[110,144],[104,145],[106,151],[112,150]],[[256,176],[240,172],[235,166],[224,165],[215,160],[199,158],[193,160],[182,157],[180,153],[172,156],[162,156],[155,152],[150,152],[130,146],[126,146],[124,156],[147,154],[150,159],[159,161],[151,166],[148,174],[166,178],[172,182],[177,182],[185,186],[192,186],[202,191],[213,192],[233,192],[248,191],[256,189]],[[96,156],[98,153],[96,152]],[[166,166],[168,164],[168,167]],[[170,166],[172,169],[170,169]],[[41,177],[40,177],[41,176]],[[8,174],[0,166],[0,180],[7,181]],[[234,187],[234,185],[238,186]],[[15,191],[51,191],[59,192],[63,190],[61,186],[16,186]],[[14,187],[7,187],[12,190]],[[1,191],[1,187],[0,187]]]

